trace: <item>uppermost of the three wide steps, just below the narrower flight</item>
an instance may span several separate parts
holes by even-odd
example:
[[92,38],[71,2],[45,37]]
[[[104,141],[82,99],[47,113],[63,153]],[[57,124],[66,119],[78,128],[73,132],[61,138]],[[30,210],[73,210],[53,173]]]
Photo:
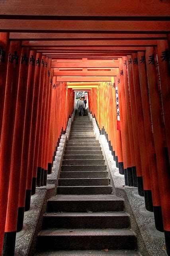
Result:
[[123,212],[124,201],[115,195],[57,195],[47,202],[48,212]]

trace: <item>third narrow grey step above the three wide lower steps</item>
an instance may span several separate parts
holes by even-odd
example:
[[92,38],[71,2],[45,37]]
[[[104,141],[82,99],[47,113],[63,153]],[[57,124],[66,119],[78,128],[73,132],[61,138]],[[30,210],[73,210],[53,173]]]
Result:
[[108,172],[60,172],[60,178],[107,178]]

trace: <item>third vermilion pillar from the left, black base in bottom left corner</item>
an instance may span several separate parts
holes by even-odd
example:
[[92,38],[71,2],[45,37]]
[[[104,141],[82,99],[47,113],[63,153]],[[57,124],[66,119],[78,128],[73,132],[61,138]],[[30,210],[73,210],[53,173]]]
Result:
[[14,128],[14,141],[12,148],[12,160],[10,170],[10,184],[8,192],[8,206],[6,214],[6,226],[4,235],[4,255],[14,255],[18,201],[20,191],[21,158],[23,149],[23,132],[25,124],[25,110],[27,101],[27,82],[28,82],[29,48],[22,48],[18,98],[16,105],[16,118]]

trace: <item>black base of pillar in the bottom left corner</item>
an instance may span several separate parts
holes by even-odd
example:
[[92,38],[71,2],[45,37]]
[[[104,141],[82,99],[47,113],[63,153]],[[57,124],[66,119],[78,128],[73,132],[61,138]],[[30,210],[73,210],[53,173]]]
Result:
[[4,233],[3,256],[14,256],[16,244],[16,231]]

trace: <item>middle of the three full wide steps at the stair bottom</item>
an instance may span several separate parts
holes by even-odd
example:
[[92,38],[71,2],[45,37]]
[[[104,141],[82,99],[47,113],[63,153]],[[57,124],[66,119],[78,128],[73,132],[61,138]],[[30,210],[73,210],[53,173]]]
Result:
[[126,212],[57,212],[43,216],[43,228],[129,228]]

